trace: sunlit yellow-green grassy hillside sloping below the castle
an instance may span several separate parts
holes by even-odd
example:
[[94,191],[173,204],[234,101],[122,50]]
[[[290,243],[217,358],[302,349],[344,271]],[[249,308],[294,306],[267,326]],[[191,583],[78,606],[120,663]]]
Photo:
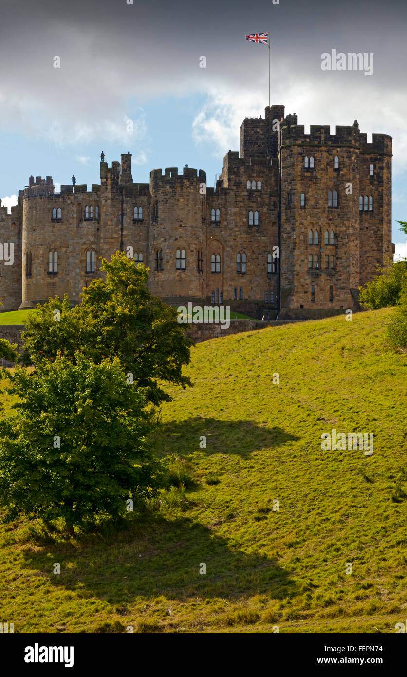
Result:
[[[407,359],[383,346],[390,313],[198,344],[194,387],[171,388],[152,440],[194,485],[102,538],[2,525],[2,620],[14,632],[395,632],[407,613]],[[374,454],[322,451],[333,428],[373,433]]]

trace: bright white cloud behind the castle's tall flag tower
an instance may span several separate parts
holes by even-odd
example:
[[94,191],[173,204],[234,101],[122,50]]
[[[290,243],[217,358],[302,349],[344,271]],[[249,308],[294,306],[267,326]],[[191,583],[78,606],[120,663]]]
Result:
[[[285,104],[286,114],[297,112],[305,134],[309,125],[330,125],[330,133],[335,134],[335,125],[352,125],[357,118],[368,141],[372,133],[392,136],[393,177],[403,175],[407,171],[407,92],[377,87],[364,100],[357,81],[349,82],[345,96],[341,92],[335,81],[299,81],[286,74],[274,86],[272,103]],[[263,116],[266,105],[263,84],[256,81],[251,83],[250,97],[238,86],[225,89],[219,83],[219,87],[209,87],[207,101],[192,123],[192,137],[196,144],[211,144],[213,153],[223,157],[228,148],[238,150],[243,119]]]

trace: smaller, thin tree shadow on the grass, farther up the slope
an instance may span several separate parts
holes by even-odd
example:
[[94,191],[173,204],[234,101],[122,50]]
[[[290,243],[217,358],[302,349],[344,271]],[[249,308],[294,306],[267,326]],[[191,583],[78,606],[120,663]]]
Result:
[[[205,435],[207,446],[200,448]],[[246,458],[254,451],[278,447],[299,437],[288,435],[278,427],[267,428],[252,420],[218,420],[188,418],[181,422],[162,423],[150,441],[158,456],[167,454],[239,454]]]

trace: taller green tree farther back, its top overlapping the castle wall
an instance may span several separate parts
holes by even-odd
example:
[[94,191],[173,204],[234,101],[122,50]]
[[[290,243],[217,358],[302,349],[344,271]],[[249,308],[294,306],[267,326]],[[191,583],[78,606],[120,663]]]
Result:
[[[81,305],[70,308],[65,296],[37,306],[39,315],[28,319],[22,334],[26,353],[33,364],[56,359],[58,351],[73,358],[75,349],[97,363],[116,355],[150,401],[169,401],[160,382],[191,385],[182,366],[190,361],[192,341],[177,322],[177,311],[152,296],[148,269],[125,254],[103,259],[101,270],[104,278],[83,289]],[[54,320],[55,311],[60,320]]]

